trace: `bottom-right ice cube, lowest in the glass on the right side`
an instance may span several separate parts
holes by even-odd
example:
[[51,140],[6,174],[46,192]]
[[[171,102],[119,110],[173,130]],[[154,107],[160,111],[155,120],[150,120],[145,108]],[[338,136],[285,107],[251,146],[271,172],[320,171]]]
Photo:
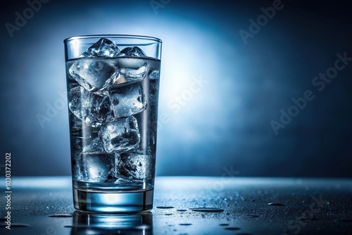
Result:
[[117,171],[130,179],[151,180],[154,174],[155,157],[139,153],[121,153]]

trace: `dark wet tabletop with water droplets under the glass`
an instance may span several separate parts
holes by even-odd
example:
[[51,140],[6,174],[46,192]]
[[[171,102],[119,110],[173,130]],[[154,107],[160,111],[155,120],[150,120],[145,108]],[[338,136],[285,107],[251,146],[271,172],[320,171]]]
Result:
[[13,177],[11,209],[1,184],[0,234],[352,234],[352,179],[157,177],[128,215],[75,211],[70,177]]

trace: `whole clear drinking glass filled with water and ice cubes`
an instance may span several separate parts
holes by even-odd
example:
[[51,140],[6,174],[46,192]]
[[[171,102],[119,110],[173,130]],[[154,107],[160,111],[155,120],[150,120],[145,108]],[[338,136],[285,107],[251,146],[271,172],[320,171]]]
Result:
[[153,208],[161,40],[64,40],[73,201],[77,210]]

